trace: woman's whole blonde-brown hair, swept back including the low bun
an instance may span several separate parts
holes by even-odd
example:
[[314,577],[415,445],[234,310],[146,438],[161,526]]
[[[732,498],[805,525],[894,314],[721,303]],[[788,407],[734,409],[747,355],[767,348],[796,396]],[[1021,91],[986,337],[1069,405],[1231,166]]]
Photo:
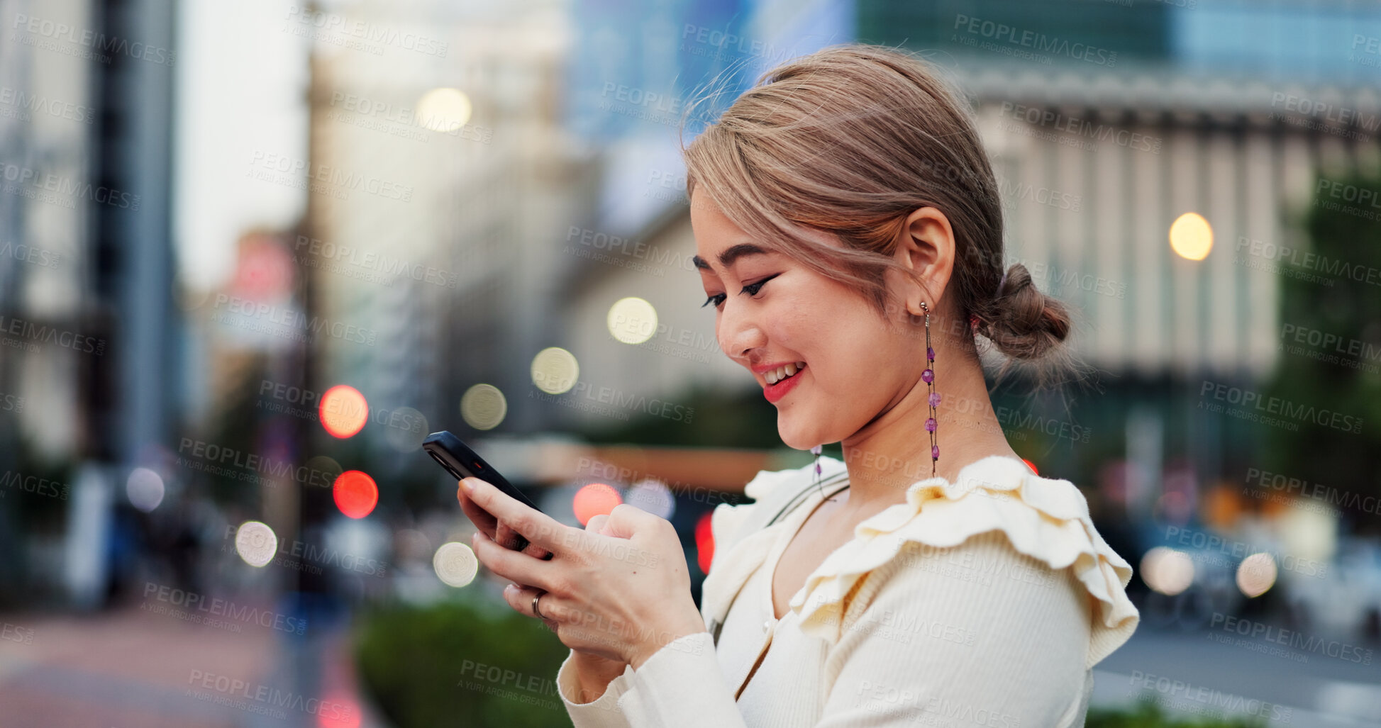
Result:
[[[762,247],[859,290],[880,312],[906,217],[935,207],[954,231],[956,327],[1015,359],[1063,354],[1066,308],[1025,265],[1003,274],[997,181],[967,101],[928,62],[847,43],[764,73],[689,145],[686,196],[708,192]],[[713,191],[713,192],[711,192]],[[823,231],[826,246],[797,233]],[[934,307],[934,301],[931,303]],[[972,341],[972,337],[969,337]]]

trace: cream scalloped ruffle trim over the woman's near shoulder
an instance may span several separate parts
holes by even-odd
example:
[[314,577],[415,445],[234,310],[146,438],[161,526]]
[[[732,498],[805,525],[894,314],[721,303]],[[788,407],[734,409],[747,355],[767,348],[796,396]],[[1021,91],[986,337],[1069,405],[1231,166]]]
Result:
[[[953,483],[918,481],[906,496],[859,524],[855,539],[807,579],[791,602],[804,630],[837,641],[841,615],[847,620],[884,595],[942,583],[952,598],[969,598],[994,619],[1034,608],[1003,598],[1010,594],[1039,597],[1047,611],[1074,605],[1088,623],[1090,667],[1131,637],[1139,620],[1126,593],[1131,566],[1103,542],[1069,481],[1041,478],[1019,460],[987,457]],[[1045,600],[1050,591],[1073,598]]]

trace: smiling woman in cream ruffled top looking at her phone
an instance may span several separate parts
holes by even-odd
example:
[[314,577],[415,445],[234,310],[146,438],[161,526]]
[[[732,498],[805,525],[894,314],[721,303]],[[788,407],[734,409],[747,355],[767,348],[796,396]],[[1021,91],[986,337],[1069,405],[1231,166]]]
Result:
[[[1003,271],[960,97],[906,54],[836,46],[768,73],[685,160],[718,343],[819,467],[760,472],[755,503],[715,508],[703,612],[666,521],[619,506],[581,532],[461,482],[478,558],[572,648],[572,721],[1083,725],[1091,667],[1138,622],[1131,568],[993,412],[976,337],[1034,361],[1069,318]],[[795,493],[762,528],[755,508]],[[508,526],[534,546],[497,546]]]

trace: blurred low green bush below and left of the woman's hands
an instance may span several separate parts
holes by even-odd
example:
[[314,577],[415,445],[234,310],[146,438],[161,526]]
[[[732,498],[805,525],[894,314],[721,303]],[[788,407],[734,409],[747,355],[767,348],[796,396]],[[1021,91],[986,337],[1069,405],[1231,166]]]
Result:
[[365,689],[399,728],[569,725],[555,685],[569,651],[540,622],[503,609],[443,602],[362,615]]

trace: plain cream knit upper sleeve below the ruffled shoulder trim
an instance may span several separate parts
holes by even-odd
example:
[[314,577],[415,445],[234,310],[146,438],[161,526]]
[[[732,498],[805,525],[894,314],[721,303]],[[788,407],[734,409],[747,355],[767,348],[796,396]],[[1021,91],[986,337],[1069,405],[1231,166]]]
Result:
[[914,696],[878,706],[896,725],[961,714],[996,718],[985,725],[1077,724],[1092,606],[1068,571],[989,530],[949,547],[907,540],[855,590],[826,648],[836,705],[856,705],[858,685],[881,685]]

